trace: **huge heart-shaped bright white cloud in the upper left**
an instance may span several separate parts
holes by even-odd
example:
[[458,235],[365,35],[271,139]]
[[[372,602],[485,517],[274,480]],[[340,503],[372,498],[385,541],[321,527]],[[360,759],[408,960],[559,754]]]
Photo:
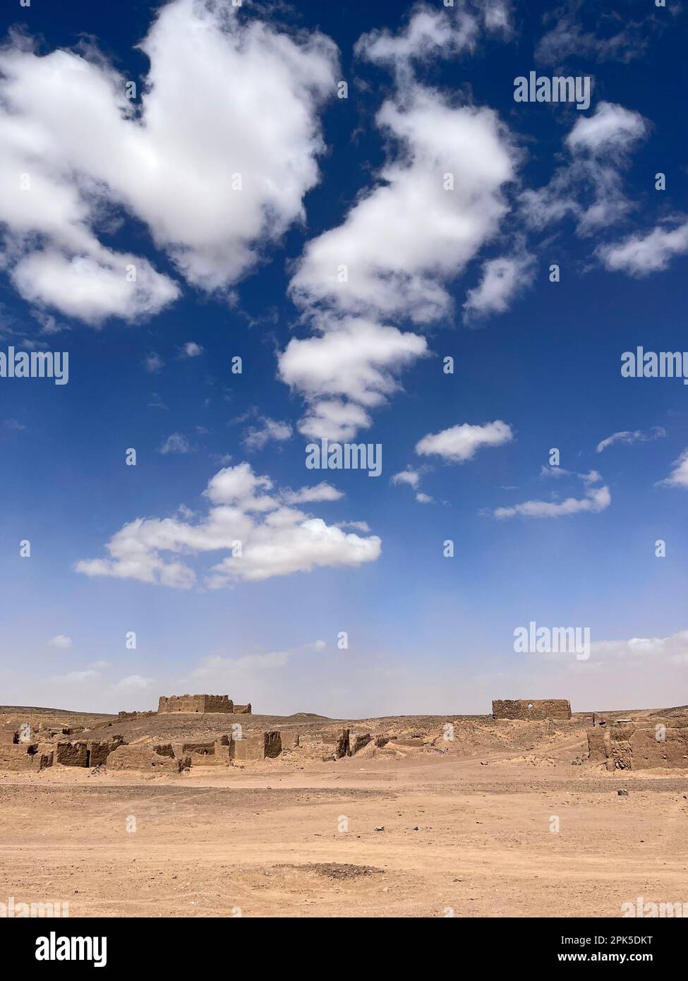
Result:
[[[179,274],[227,290],[303,216],[323,149],[318,111],[337,55],[229,0],[172,0],[139,45],[137,100],[93,51],[0,51],[0,221],[13,283],[91,323],[158,312],[179,286],[97,237],[111,214],[142,222]],[[231,79],[228,83],[227,79]]]

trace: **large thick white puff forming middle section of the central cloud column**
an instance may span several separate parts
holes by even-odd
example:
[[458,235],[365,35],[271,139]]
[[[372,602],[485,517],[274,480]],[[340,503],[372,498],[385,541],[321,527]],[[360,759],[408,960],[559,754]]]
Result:
[[304,308],[427,324],[450,314],[446,283],[498,232],[516,152],[493,110],[452,106],[417,84],[387,100],[377,123],[397,157],[339,228],[308,242],[291,293]]

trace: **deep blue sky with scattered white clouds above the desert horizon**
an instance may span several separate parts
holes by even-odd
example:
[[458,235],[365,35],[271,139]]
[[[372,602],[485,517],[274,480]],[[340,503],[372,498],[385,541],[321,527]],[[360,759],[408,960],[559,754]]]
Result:
[[688,347],[685,15],[549,6],[13,12],[0,351],[69,384],[0,378],[0,702],[685,703],[688,387],[620,374]]

